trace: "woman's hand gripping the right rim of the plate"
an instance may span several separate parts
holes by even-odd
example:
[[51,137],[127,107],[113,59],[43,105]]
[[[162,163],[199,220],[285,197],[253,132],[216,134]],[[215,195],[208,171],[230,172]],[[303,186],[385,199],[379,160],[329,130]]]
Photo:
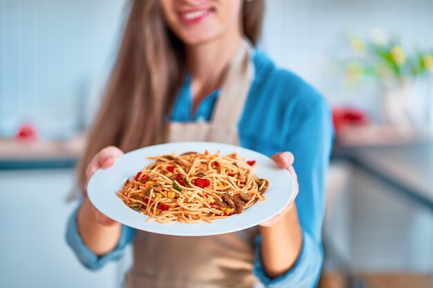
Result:
[[293,208],[293,205],[295,203],[295,198],[297,196],[297,193],[299,192],[299,185],[297,184],[297,175],[295,169],[293,168],[293,162],[295,161],[295,157],[293,157],[293,154],[290,152],[276,153],[271,158],[275,162],[277,162],[279,167],[283,169],[287,169],[287,171],[291,173],[293,180],[295,180],[295,194],[293,195],[291,202],[288,203],[288,205],[286,206],[286,208],[284,208],[283,211],[275,215],[273,218],[270,218],[269,220],[259,224],[259,226],[261,227],[272,227],[277,222],[279,222],[279,220],[284,218],[284,216],[286,216],[287,213],[291,211],[291,209]]

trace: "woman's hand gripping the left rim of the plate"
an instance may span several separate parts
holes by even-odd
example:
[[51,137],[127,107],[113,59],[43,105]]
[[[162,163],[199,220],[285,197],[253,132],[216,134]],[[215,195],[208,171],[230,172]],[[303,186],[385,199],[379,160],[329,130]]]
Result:
[[[86,169],[86,184],[84,186],[85,191],[87,191],[87,184],[89,183],[90,177],[97,171],[98,169],[106,169],[113,166],[114,162],[116,162],[116,158],[123,155],[123,151],[115,146],[108,146],[99,151],[95,156],[93,156],[91,162],[87,166]],[[91,204],[88,197],[84,200],[83,205],[88,206],[93,215],[95,216],[95,221],[104,226],[114,226],[119,225],[118,222],[112,220],[107,215],[102,214],[98,209],[96,209],[93,204]]]

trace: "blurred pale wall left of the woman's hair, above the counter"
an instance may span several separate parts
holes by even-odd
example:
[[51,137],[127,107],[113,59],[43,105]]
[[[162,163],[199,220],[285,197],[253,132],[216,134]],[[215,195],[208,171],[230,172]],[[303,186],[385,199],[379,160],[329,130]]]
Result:
[[124,3],[0,0],[0,137],[26,121],[46,137],[75,133],[110,70]]

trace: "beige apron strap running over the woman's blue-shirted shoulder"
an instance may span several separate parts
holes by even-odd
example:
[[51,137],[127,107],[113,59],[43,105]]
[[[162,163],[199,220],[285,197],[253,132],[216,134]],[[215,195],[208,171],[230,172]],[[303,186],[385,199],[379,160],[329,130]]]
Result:
[[243,39],[225,73],[212,115],[212,124],[230,128],[237,127],[255,73],[251,56],[252,44],[247,39]]

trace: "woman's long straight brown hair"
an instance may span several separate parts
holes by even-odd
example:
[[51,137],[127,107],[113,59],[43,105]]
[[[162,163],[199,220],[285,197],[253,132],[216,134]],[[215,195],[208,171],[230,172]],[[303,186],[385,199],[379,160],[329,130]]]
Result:
[[[77,166],[77,191],[86,166],[106,146],[131,151],[164,141],[164,119],[185,77],[182,42],[165,26],[158,0],[131,0],[116,64]],[[264,0],[244,1],[243,32],[257,43]]]

